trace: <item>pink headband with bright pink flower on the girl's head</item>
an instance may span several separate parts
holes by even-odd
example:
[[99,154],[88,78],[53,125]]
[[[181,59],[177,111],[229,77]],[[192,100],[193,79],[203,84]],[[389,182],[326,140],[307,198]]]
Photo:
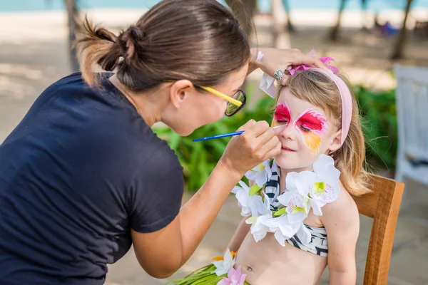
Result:
[[[332,58],[320,58],[324,63],[327,63],[328,61],[334,61]],[[329,78],[332,79],[332,81],[336,84],[337,89],[339,89],[340,93],[340,99],[342,100],[342,138],[340,141],[340,145],[343,145],[345,142],[345,139],[347,137],[347,134],[350,130],[351,125],[351,118],[352,118],[352,95],[350,92],[350,89],[347,87],[346,83],[342,81],[342,79],[339,76],[336,76],[333,73],[329,73],[321,68],[312,68],[310,66],[292,66],[293,68],[289,71],[291,75],[293,75],[296,71],[307,71],[309,69],[318,71],[322,74],[325,74]],[[328,68],[330,68],[331,71],[337,73],[339,70],[335,68],[334,66],[327,65]],[[274,78],[268,76],[267,74],[263,74],[262,81],[260,82],[260,88],[265,91],[270,97],[275,98],[276,88],[273,85],[273,82],[275,81]]]

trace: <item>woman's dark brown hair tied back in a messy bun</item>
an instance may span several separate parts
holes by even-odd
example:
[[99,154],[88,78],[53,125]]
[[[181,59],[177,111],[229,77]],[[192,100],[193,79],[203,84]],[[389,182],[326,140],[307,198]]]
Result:
[[118,80],[134,91],[180,79],[215,86],[250,57],[247,36],[216,0],[161,1],[118,36],[86,18],[76,43],[88,85],[98,85],[98,64],[116,68]]

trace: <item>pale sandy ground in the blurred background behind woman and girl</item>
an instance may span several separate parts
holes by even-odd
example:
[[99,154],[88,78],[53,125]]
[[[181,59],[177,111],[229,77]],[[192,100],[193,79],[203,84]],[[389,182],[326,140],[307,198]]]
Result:
[[[138,19],[141,10],[104,9],[88,11],[89,16],[109,28],[118,30]],[[384,11],[381,21],[389,19],[399,24],[400,11]],[[371,16],[372,17],[372,16]],[[427,11],[414,11],[414,19],[427,20]],[[370,20],[369,15],[369,21]],[[280,46],[300,48],[309,52],[315,48],[318,54],[328,54],[337,59],[337,66],[345,71],[352,83],[372,88],[394,88],[394,78],[388,60],[394,37],[380,38],[360,31],[362,17],[358,12],[344,15],[342,37],[338,43],[326,41],[328,26],[335,21],[334,11],[295,11],[292,21],[297,32],[282,34]],[[272,46],[271,21],[267,16],[258,16],[258,43]],[[37,96],[51,83],[68,75],[66,14],[61,11],[0,14],[0,142],[19,123]],[[428,66],[428,41],[409,36],[402,64]],[[250,79],[253,84],[260,78],[255,72]],[[389,284],[428,284],[426,257],[428,254],[428,189],[422,185],[409,184],[412,191],[409,207],[400,215],[394,243]],[[184,200],[189,195],[185,195]],[[211,257],[223,251],[236,224],[240,220],[235,201],[231,198],[210,229],[195,255],[178,272],[198,268]],[[368,237],[371,222],[362,219],[362,231],[357,248],[359,266],[358,283],[362,284]],[[220,233],[220,234],[219,234]],[[425,270],[424,270],[425,268]],[[322,284],[327,284],[327,277]],[[108,284],[161,284],[151,279],[139,268],[133,252],[110,266]]]

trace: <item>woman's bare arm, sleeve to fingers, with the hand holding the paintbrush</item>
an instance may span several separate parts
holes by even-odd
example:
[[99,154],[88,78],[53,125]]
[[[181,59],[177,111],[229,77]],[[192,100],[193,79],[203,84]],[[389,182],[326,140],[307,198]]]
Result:
[[245,133],[230,140],[208,180],[173,222],[157,232],[131,232],[136,257],[151,276],[166,278],[177,271],[198,247],[245,172],[280,152],[280,142],[267,122],[248,123],[240,130]]

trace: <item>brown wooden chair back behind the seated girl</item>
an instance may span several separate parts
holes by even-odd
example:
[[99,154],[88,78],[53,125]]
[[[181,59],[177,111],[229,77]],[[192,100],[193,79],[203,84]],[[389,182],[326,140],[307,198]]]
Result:
[[364,285],[387,285],[389,260],[404,183],[377,175],[370,175],[370,180],[370,189],[373,192],[354,197],[360,214],[373,219]]

